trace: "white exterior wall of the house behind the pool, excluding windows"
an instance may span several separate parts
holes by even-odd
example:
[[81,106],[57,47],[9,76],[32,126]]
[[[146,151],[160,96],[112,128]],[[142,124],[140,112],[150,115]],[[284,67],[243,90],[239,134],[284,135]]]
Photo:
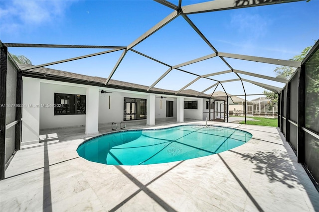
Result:
[[[25,141],[24,144],[26,144],[26,142],[28,144],[39,142],[40,129],[52,129],[86,125],[86,116],[88,115],[88,110],[86,114],[54,115],[54,94],[60,93],[86,95],[86,100],[89,101],[88,89],[90,86],[29,77],[23,77],[22,80],[22,103],[35,106],[23,107],[22,142]],[[96,120],[97,123],[111,123],[123,121],[124,98],[152,100],[153,102],[147,102],[147,105],[152,106],[152,108],[149,108],[147,110],[147,116],[150,117],[150,112],[153,111],[154,120],[155,118],[166,117],[166,101],[173,101],[173,117],[178,118],[177,116],[179,116],[178,120],[180,122],[183,122],[184,117],[198,120],[203,119],[203,100],[201,98],[184,98],[170,96],[162,99],[162,105],[160,108],[160,98],[156,98],[158,97],[158,95],[155,94],[125,91],[118,89],[99,88],[94,86],[92,87],[92,89],[94,90],[92,95],[97,96],[94,99],[95,101],[93,101],[96,104],[98,104],[98,107],[95,107],[94,110],[97,111],[94,112],[94,114],[98,113],[96,116],[97,118],[94,118],[94,120]],[[101,94],[100,91],[102,89],[110,93]],[[95,95],[95,93],[97,93],[98,95]],[[154,98],[150,99],[150,95],[153,95]],[[177,108],[178,98],[181,100],[179,104],[180,110],[178,110]],[[197,101],[197,109],[183,109],[184,101]]]

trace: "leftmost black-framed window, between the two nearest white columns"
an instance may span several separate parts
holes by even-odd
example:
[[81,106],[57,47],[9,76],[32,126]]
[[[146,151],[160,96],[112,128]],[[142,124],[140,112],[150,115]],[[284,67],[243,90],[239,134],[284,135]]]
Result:
[[54,115],[85,114],[85,95],[54,94]]

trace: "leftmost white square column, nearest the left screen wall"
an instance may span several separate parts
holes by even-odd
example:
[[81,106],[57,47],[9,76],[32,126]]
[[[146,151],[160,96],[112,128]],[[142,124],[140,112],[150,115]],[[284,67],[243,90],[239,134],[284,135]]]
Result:
[[22,143],[39,143],[40,80],[24,77],[22,84]]

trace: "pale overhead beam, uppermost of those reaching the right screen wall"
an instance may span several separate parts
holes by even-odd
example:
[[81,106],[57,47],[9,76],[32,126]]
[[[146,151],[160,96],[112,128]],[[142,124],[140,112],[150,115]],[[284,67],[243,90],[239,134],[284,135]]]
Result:
[[254,61],[254,62],[261,62],[261,63],[270,63],[270,64],[276,64],[281,66],[290,66],[290,67],[301,66],[301,62],[293,61],[293,60],[280,60],[280,59],[273,59],[273,58],[267,58],[267,57],[256,57],[256,56],[231,54],[231,53],[224,53],[224,52],[218,52],[217,56],[240,59],[240,60],[248,60],[248,61]]

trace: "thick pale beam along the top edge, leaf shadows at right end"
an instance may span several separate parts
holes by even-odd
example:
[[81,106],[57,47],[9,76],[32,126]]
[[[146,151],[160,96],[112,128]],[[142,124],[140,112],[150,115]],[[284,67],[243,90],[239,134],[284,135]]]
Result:
[[262,3],[256,3],[257,1],[255,0],[245,0],[245,4],[238,3],[237,5],[235,4],[236,2],[235,0],[212,0],[207,2],[182,6],[181,9],[184,14],[193,14],[193,13],[211,12],[211,11],[218,11],[218,10],[242,8],[242,7],[261,6],[261,5],[267,5],[267,4],[287,3],[287,2],[293,2],[293,1],[302,1],[302,0],[271,0],[271,1],[264,1]]

